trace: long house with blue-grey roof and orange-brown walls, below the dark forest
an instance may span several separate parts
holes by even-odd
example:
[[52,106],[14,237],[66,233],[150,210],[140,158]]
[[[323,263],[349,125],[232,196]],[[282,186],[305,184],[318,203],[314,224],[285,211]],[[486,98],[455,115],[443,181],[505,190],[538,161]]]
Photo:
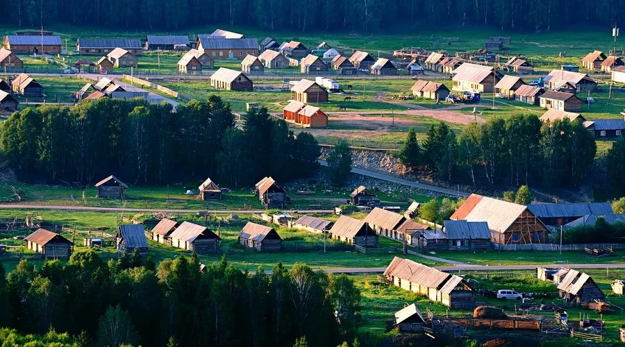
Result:
[[249,38],[200,38],[196,48],[213,59],[243,58],[249,55],[258,56],[258,40]]

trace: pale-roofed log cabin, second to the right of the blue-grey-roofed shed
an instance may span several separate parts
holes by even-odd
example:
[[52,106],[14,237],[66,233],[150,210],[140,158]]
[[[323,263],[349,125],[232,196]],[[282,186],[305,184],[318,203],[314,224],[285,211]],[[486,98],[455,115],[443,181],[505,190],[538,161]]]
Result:
[[219,242],[222,241],[221,237],[206,226],[199,226],[188,221],[184,221],[169,234],[169,239],[172,246],[176,248],[200,254],[219,251]]

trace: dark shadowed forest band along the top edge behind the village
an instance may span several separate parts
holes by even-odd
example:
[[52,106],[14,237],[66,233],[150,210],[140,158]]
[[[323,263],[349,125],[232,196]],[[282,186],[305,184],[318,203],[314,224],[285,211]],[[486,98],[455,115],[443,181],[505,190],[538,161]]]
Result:
[[89,10],[67,0],[0,0],[7,24],[39,28],[73,24],[174,31],[230,24],[264,30],[376,31],[390,26],[486,25],[512,30],[610,27],[622,20],[619,0],[97,0]]

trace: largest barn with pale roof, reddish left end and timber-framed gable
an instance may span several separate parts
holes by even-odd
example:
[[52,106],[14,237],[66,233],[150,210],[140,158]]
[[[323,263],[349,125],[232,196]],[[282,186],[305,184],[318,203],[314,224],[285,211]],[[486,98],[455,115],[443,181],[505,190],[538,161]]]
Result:
[[544,244],[547,227],[525,205],[471,194],[449,218],[485,221],[497,244]]

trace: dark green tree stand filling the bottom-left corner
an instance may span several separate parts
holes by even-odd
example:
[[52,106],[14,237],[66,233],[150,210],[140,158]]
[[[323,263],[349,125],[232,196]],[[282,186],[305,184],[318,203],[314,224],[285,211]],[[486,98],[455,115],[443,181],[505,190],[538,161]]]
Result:
[[65,266],[22,260],[6,276],[0,263],[0,307],[0,327],[67,331],[79,346],[337,346],[355,339],[360,291],[304,264],[266,275],[224,258],[201,272],[195,255],[155,266],[85,251]]

